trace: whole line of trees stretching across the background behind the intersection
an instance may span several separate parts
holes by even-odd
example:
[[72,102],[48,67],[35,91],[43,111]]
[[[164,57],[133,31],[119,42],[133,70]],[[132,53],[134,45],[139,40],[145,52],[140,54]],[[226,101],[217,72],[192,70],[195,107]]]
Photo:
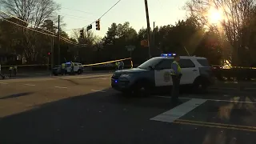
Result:
[[[57,10],[60,10],[58,3],[53,0],[0,2],[0,10],[16,17],[1,14],[0,54],[22,55],[29,64],[46,63],[49,60],[52,35],[58,32],[58,22],[54,17]],[[156,26],[150,30],[150,54],[153,57],[162,53],[176,53],[206,57],[212,65],[228,62],[233,66],[252,66],[256,63],[254,0],[235,3],[230,0],[189,0],[184,8],[188,12],[186,19],[179,20],[174,25]],[[222,11],[222,19],[218,23],[211,23],[210,17],[206,15],[212,8]],[[65,25],[64,22],[61,24]],[[51,31],[54,33],[50,33]],[[91,31],[84,31],[84,38],[81,38],[79,30],[74,30],[71,37],[61,30],[61,37],[61,62],[106,62],[130,58],[131,54],[133,62],[139,64],[149,58],[148,47],[141,46],[141,41],[147,39],[146,29],[136,31],[130,26],[130,22],[114,22],[104,38],[99,38]],[[130,53],[126,46],[134,46],[135,49]],[[54,37],[54,62],[57,60],[58,37]]]

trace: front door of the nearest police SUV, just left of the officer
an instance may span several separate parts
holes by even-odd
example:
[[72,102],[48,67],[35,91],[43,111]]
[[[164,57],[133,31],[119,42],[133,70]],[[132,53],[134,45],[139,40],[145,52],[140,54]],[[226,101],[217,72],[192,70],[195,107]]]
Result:
[[173,62],[173,58],[162,59],[154,70],[154,82],[155,86],[170,86],[172,85],[172,79],[170,76],[171,71],[171,63]]

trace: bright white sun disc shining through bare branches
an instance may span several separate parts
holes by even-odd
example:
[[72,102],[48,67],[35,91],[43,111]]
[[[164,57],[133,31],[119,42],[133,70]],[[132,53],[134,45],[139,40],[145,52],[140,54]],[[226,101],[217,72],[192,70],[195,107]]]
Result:
[[223,16],[222,16],[222,11],[221,10],[217,10],[217,9],[214,9],[214,8],[211,8],[209,11],[208,11],[208,22],[210,24],[218,24],[219,22],[222,21],[223,19]]

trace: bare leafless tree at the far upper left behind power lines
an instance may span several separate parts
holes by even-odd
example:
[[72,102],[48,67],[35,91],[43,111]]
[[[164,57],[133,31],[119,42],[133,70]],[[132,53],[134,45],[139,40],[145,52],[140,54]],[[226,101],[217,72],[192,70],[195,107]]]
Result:
[[[53,0],[0,0],[0,3],[2,10],[28,22],[29,25],[26,26],[30,28],[37,29],[39,26],[42,26],[47,19],[50,19],[54,23],[58,22],[56,12],[60,9],[60,6]],[[39,36],[38,33],[24,28],[20,31],[23,34],[23,54],[28,62],[35,61],[38,53],[41,51],[40,49],[42,49],[42,47],[38,45],[42,34]]]

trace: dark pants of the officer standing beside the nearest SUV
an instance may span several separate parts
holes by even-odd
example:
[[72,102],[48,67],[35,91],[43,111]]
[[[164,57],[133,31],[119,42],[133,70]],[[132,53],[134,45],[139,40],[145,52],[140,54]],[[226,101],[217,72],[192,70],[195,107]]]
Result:
[[173,88],[171,91],[171,101],[172,102],[177,102],[178,101],[178,95],[179,95],[179,83],[181,81],[181,78],[176,76],[176,75],[172,75],[172,80],[173,80]]

